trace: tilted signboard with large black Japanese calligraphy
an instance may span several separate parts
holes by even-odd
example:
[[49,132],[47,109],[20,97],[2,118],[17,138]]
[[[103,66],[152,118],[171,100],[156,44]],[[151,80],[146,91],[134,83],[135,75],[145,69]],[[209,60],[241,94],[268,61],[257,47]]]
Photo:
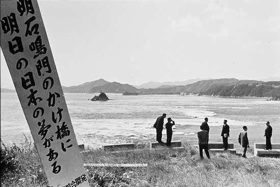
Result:
[[37,0],[1,0],[0,21],[1,48],[50,186],[89,187]]

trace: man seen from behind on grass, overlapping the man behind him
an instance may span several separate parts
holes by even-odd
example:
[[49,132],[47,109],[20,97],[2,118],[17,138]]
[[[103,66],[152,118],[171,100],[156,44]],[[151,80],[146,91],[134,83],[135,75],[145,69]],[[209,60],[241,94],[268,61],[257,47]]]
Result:
[[203,149],[208,159],[210,159],[209,151],[208,151],[208,132],[203,130],[203,127],[200,126],[200,131],[198,131],[199,138],[199,154],[200,159],[203,159]]

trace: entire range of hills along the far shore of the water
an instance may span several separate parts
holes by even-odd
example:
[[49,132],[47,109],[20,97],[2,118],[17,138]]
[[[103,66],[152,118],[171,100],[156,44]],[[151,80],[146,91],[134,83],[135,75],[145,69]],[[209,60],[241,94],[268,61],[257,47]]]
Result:
[[[194,79],[192,79],[194,80]],[[150,82],[151,83],[151,82]],[[166,82],[165,82],[166,83]],[[169,82],[170,84],[179,82]],[[181,82],[182,83],[182,82]],[[148,84],[146,84],[147,86]],[[153,84],[155,85],[155,84]],[[158,85],[158,84],[157,84]],[[152,84],[150,84],[152,86]],[[186,85],[160,85],[156,88],[136,88],[129,84],[108,82],[98,79],[77,86],[65,87],[64,92],[133,92],[142,95],[148,94],[195,94],[220,97],[280,97],[280,81],[238,80],[235,78],[200,80]]]

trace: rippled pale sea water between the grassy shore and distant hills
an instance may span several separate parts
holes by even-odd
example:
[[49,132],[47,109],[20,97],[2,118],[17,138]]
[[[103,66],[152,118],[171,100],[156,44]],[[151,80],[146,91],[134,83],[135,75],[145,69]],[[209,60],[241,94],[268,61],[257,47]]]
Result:
[[[210,141],[221,141],[223,119],[230,126],[230,142],[237,143],[242,126],[248,126],[251,144],[264,142],[265,121],[273,128],[272,142],[280,142],[280,102],[264,98],[218,98],[206,96],[139,95],[107,93],[109,101],[89,101],[96,94],[65,93],[77,141],[98,147],[110,143],[155,141],[152,127],[162,113],[173,118],[173,140],[197,142],[197,131],[209,118]],[[164,123],[167,122],[167,117]],[[1,139],[19,144],[31,137],[16,93],[1,93]],[[163,130],[163,141],[165,141]]]

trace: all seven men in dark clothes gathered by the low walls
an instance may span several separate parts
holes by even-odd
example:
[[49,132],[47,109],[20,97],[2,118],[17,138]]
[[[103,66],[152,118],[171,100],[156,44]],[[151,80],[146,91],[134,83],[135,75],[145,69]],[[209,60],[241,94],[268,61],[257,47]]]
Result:
[[[166,114],[163,113],[161,116],[159,116],[156,119],[156,122],[154,123],[154,128],[156,128],[156,141],[159,143],[163,143],[161,138],[162,138],[162,130],[163,130],[163,124],[164,124],[164,118],[166,117]],[[204,119],[205,121],[202,122],[200,126],[200,131],[198,131],[198,138],[199,138],[199,151],[200,151],[200,157],[203,159],[203,149],[205,150],[205,154],[208,159],[210,159],[209,151],[208,151],[208,142],[209,142],[209,131],[210,127],[208,126],[208,118],[206,117]],[[223,147],[224,150],[228,150],[228,138],[230,137],[230,126],[227,124],[227,120],[223,120],[223,126],[221,130],[221,137],[222,137],[222,142],[223,142]],[[170,146],[171,145],[171,140],[172,140],[172,126],[175,125],[175,121],[172,120],[170,117],[167,118],[167,123],[165,124],[166,128],[166,145]],[[271,136],[272,136],[272,127],[270,126],[270,122],[266,122],[266,129],[265,129],[265,134],[264,136],[266,137],[266,148],[265,150],[272,149],[271,146]],[[243,126],[243,131],[239,133],[238,136],[238,142],[239,144],[243,147],[243,154],[242,157],[246,158],[246,151],[247,148],[249,148],[249,140],[247,136],[247,130],[248,128],[246,126]]]

